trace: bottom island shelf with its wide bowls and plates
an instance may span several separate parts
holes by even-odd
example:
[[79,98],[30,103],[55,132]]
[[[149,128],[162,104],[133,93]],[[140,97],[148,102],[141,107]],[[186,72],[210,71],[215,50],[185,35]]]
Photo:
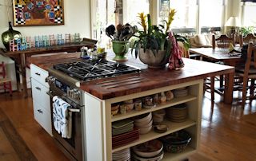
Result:
[[190,132],[180,130],[158,139],[126,147],[112,153],[112,160],[174,160],[190,155],[195,151],[190,146]]

